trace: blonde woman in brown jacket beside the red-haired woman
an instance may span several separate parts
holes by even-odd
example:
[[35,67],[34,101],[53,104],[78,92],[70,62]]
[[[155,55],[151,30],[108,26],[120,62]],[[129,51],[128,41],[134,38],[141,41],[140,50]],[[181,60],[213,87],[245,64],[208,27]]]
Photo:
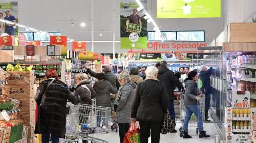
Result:
[[80,96],[81,104],[92,105],[92,100],[95,98],[95,91],[90,85],[90,82],[87,80],[88,77],[85,73],[77,73],[75,75],[76,87],[75,87],[75,96]]

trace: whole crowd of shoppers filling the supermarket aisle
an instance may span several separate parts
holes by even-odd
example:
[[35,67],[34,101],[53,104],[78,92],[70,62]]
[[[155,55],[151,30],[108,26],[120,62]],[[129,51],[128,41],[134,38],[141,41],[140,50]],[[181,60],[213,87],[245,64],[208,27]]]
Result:
[[[125,133],[129,130],[131,123],[139,122],[140,139],[142,143],[147,143],[151,137],[152,143],[160,142],[161,125],[164,114],[169,113],[175,125],[174,110],[174,89],[185,89],[184,106],[185,121],[183,138],[192,138],[188,134],[188,122],[194,113],[197,117],[199,138],[208,138],[203,129],[203,118],[198,107],[201,91],[205,96],[210,94],[210,75],[213,71],[202,66],[200,74],[197,71],[189,71],[189,67],[180,68],[180,79],[177,74],[168,69],[168,63],[161,61],[156,66],[142,67],[139,75],[138,68],[132,68],[130,72],[123,71],[118,76],[111,73],[112,67],[105,66],[104,72],[95,73],[87,66],[87,74],[98,79],[91,85],[86,73],[77,73],[75,75],[76,87],[74,93],[69,91],[65,83],[60,81],[55,70],[50,69],[46,73],[46,80],[42,81],[36,95],[38,105],[38,120],[35,133],[42,134],[42,142],[58,142],[59,138],[65,135],[66,124],[66,103],[67,100],[73,104],[92,105],[92,99],[96,99],[97,106],[111,107],[111,94],[117,94],[115,100],[117,103],[116,115],[119,125],[120,143],[123,143]],[[198,76],[203,82],[201,91],[198,91]],[[144,79],[143,79],[144,78]],[[182,81],[182,82],[181,82]],[[182,85],[184,83],[184,85]],[[54,100],[56,99],[56,100]],[[206,102],[207,100],[207,102]],[[205,104],[209,98],[205,97]],[[205,105],[208,107],[209,105]],[[208,119],[208,108],[205,119]],[[89,112],[86,112],[89,115]],[[105,116],[97,112],[97,123],[100,118]],[[80,120],[88,120],[82,119]],[[56,122],[58,121],[58,122]],[[60,121],[60,122],[59,122]],[[100,125],[97,124],[97,127]],[[171,133],[177,132],[175,129]],[[87,141],[83,141],[87,142]]]

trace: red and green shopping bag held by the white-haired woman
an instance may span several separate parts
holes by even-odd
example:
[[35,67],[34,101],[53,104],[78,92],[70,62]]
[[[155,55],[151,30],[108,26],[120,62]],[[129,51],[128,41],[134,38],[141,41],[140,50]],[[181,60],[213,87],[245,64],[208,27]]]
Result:
[[140,131],[136,123],[131,123],[128,132],[125,134],[124,143],[140,143]]

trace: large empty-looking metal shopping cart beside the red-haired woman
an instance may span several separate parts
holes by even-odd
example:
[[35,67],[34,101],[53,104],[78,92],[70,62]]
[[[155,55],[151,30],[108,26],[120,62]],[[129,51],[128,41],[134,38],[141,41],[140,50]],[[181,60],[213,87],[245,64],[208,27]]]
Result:
[[66,139],[61,142],[77,142],[79,139],[95,143],[108,143],[94,137],[94,134],[108,133],[111,108],[95,105],[70,105],[67,115]]

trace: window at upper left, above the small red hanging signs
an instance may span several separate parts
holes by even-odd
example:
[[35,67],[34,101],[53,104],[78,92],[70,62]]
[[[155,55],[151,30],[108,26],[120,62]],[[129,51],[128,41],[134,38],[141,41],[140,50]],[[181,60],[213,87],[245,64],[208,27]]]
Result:
[[48,32],[49,34],[46,33],[40,33],[40,32],[19,32],[19,33],[24,33],[26,36],[26,39],[28,41],[50,41],[50,35],[61,35],[61,32]]

